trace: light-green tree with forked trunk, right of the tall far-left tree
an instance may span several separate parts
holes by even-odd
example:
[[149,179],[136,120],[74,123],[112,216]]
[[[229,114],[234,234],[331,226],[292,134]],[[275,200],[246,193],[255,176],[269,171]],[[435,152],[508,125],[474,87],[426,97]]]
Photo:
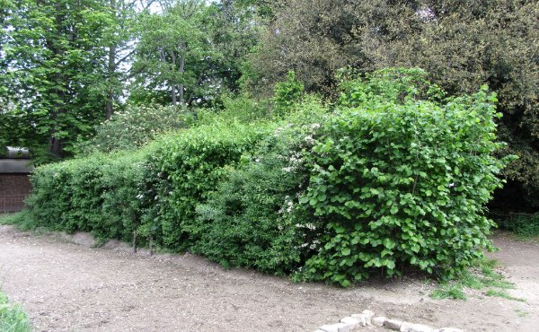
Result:
[[203,66],[218,57],[210,38],[212,7],[199,0],[163,5],[163,13],[141,15],[133,65],[138,89],[169,91],[172,105],[189,104],[211,89]]

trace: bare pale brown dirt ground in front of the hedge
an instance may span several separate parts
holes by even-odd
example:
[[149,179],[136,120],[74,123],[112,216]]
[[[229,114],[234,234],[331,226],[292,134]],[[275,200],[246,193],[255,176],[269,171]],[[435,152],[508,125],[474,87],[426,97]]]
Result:
[[[204,258],[133,254],[87,234],[35,234],[0,225],[0,282],[38,331],[312,331],[362,310],[466,331],[539,330],[539,245],[494,237],[490,256],[515,283],[512,295],[429,298],[422,280],[373,281],[350,289],[224,270]],[[365,328],[365,330],[368,330]]]

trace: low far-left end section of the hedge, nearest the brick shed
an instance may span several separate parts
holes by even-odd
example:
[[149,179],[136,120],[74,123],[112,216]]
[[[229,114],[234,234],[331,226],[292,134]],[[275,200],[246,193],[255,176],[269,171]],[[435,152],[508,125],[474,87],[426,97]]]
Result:
[[137,195],[151,146],[136,153],[94,153],[39,167],[23,218],[28,226],[129,239],[140,219]]

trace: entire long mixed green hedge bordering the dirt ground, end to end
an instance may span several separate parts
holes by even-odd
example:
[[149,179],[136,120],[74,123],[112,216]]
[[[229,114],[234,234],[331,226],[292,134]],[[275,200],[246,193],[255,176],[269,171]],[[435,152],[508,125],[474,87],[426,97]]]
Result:
[[137,153],[40,167],[27,217],[296,280],[455,275],[490,246],[483,206],[510,158],[493,157],[494,93],[446,98],[425,77],[343,72],[332,107],[302,97],[246,123],[229,109]]

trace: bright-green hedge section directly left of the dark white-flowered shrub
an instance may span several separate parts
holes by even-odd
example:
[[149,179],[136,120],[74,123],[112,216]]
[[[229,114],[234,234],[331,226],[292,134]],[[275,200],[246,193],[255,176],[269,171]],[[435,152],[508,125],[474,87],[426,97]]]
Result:
[[195,207],[216,188],[225,166],[239,162],[266,132],[264,126],[216,122],[160,140],[146,164],[140,232],[167,248],[190,248],[202,230]]

